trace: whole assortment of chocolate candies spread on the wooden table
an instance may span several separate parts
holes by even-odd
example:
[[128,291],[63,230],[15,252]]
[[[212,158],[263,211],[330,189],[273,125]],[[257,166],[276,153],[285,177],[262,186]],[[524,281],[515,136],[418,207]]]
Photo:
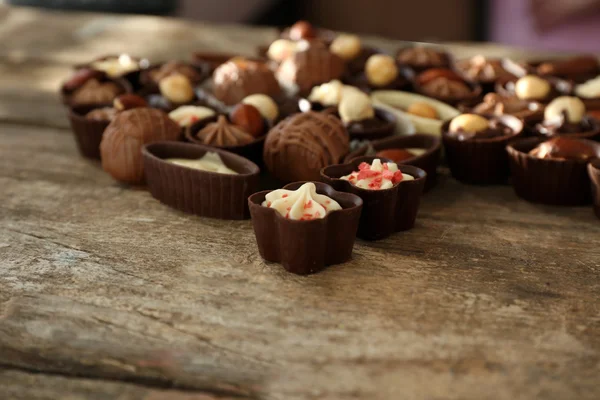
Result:
[[442,152],[462,182],[512,177],[527,200],[600,214],[593,57],[387,54],[300,21],[251,57],[103,56],[60,94],[82,155],[182,211],[251,217],[262,257],[295,273],[412,228]]

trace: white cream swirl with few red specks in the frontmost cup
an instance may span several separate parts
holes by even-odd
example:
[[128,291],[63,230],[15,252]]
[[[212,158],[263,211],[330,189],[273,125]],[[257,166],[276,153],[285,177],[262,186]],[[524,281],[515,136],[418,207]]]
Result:
[[312,182],[307,182],[296,190],[274,190],[265,196],[262,205],[275,209],[285,218],[300,221],[325,218],[330,212],[342,209],[337,201],[318,194]]

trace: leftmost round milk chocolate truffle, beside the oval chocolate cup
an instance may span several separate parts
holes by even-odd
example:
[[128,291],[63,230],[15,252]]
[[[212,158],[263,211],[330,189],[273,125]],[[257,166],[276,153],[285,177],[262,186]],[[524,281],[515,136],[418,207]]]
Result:
[[177,140],[179,125],[155,108],[122,111],[108,125],[100,143],[102,168],[121,182],[144,180],[142,146],[161,140]]

